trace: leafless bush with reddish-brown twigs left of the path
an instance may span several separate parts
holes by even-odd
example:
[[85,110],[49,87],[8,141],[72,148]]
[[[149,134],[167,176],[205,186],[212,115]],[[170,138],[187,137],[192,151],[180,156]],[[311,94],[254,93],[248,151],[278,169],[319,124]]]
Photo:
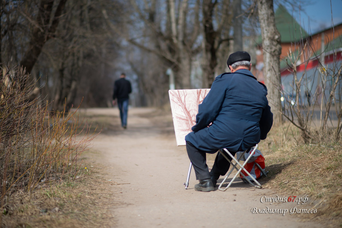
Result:
[[88,124],[80,128],[75,112],[49,113],[48,103],[31,100],[34,83],[22,68],[2,69],[0,77],[1,202],[6,193],[80,175],[77,157],[95,137]]

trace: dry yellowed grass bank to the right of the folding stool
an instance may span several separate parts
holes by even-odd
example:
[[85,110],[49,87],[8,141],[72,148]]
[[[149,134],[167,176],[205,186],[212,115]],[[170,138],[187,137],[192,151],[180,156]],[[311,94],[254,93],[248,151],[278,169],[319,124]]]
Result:
[[[264,187],[283,195],[306,196],[317,208],[310,219],[342,226],[342,148],[328,136],[305,145],[288,124],[274,127],[262,143],[268,176]],[[328,224],[327,224],[328,226]]]

